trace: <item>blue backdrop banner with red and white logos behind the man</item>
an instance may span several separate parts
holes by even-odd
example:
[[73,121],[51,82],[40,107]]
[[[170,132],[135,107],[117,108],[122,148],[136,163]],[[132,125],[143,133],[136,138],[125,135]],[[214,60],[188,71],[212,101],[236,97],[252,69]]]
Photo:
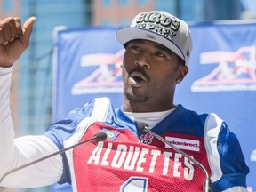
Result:
[[[198,113],[216,113],[240,140],[256,191],[256,23],[190,25],[193,37],[188,76],[175,103]],[[53,121],[95,97],[122,104],[124,48],[118,28],[63,29],[56,33]],[[254,190],[253,190],[254,189]],[[52,191],[71,191],[53,185]]]

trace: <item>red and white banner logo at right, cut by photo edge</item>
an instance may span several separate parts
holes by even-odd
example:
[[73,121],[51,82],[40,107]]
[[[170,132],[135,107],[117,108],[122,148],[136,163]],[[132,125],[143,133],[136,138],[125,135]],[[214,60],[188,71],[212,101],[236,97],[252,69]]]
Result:
[[216,65],[208,75],[197,79],[191,92],[256,90],[256,47],[240,47],[236,52],[203,52],[201,65]]

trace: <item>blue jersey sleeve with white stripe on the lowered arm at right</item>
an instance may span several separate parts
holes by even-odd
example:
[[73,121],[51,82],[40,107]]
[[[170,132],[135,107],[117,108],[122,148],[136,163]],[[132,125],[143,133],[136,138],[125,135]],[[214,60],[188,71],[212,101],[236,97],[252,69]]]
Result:
[[232,188],[232,191],[243,191],[241,188],[244,188],[246,191],[249,168],[236,134],[216,115],[209,116],[205,133],[214,191],[225,191],[228,188]]

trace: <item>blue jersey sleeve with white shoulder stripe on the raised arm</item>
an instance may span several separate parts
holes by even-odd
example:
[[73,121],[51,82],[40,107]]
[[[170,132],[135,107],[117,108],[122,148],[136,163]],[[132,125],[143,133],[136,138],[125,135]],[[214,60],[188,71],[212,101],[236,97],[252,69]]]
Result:
[[[112,106],[108,98],[95,98],[86,103],[84,107],[71,110],[66,116],[62,116],[56,123],[52,124],[47,129],[44,135],[52,140],[59,149],[67,148],[69,146],[65,146],[65,141],[74,134],[77,134],[77,126],[84,118],[90,117],[95,121],[104,121],[108,118],[108,110],[111,111],[109,108],[112,109]],[[63,174],[59,183],[62,184],[68,182],[71,184],[68,157],[66,156],[66,153],[61,154],[61,156],[63,160]]]

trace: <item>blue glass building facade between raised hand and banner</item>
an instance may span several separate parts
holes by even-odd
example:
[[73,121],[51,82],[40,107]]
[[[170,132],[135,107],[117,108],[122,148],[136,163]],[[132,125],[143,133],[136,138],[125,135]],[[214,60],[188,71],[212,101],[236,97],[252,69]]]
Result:
[[21,1],[21,20],[36,16],[36,22],[28,50],[20,60],[20,135],[42,133],[51,122],[54,28],[90,24],[92,19],[86,12],[90,7],[90,1],[84,0]]

